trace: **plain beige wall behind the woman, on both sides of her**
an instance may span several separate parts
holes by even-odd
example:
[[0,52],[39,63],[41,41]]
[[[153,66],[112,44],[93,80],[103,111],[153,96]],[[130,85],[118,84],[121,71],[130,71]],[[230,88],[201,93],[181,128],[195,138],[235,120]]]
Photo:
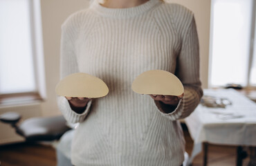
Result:
[[[169,0],[180,3],[194,12],[201,54],[201,81],[208,85],[208,52],[210,33],[210,0]],[[71,13],[87,8],[88,0],[42,0],[42,26],[44,37],[44,61],[46,64],[46,102],[42,103],[42,115],[60,114],[55,98],[55,85],[59,81],[60,26]]]

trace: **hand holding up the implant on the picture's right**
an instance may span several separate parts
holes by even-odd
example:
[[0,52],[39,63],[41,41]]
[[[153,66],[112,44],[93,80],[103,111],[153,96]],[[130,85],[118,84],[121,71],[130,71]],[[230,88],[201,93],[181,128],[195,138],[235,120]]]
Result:
[[156,101],[161,101],[164,104],[169,104],[173,106],[177,106],[179,104],[179,100],[183,98],[184,93],[182,95],[150,95],[150,97]]

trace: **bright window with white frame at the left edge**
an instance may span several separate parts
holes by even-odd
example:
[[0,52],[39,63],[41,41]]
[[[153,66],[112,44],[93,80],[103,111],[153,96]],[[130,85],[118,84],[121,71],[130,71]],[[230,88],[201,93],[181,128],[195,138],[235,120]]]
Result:
[[22,93],[43,97],[40,1],[1,0],[0,25],[0,99]]

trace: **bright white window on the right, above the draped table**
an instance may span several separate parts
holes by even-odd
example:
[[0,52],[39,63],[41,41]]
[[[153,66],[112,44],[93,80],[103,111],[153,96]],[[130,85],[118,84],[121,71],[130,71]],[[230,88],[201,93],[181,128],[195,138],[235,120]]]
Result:
[[256,83],[256,54],[253,55],[252,45],[254,3],[253,0],[212,1],[210,87],[229,83],[252,86]]

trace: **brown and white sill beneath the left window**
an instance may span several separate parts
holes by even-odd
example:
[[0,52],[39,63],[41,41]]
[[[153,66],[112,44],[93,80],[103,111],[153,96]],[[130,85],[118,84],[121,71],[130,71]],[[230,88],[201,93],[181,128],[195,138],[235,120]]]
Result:
[[0,95],[0,107],[13,105],[35,104],[44,102],[39,93],[12,93]]

